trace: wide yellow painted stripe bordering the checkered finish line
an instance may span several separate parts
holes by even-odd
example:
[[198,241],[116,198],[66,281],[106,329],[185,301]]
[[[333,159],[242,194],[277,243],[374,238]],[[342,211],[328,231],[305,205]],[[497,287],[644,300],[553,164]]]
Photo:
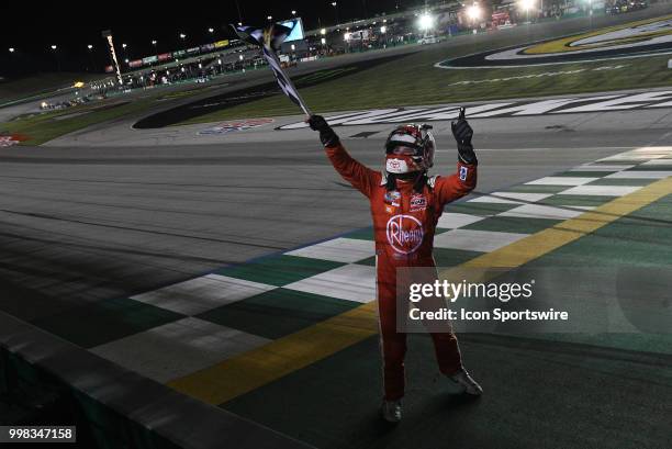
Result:
[[[514,268],[574,242],[672,193],[672,178],[656,181],[552,228],[477,257],[460,268]],[[378,333],[377,303],[368,303],[260,348],[168,382],[209,404],[223,404],[332,356]]]

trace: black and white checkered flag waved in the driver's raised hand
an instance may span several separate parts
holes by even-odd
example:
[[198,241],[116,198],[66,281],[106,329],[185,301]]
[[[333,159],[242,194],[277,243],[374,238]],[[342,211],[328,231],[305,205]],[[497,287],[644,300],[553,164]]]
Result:
[[282,92],[284,92],[284,94],[294,104],[300,106],[307,116],[311,116],[311,110],[305,105],[305,102],[299,94],[294,83],[282,69],[280,60],[278,60],[278,55],[276,55],[276,50],[292,32],[292,29],[277,23],[271,24],[266,29],[256,29],[254,26],[231,26],[242,41],[259,45],[261,47],[264,57],[268,61],[271,70],[273,70],[273,75],[276,76],[276,80],[278,80],[278,86],[280,86]]

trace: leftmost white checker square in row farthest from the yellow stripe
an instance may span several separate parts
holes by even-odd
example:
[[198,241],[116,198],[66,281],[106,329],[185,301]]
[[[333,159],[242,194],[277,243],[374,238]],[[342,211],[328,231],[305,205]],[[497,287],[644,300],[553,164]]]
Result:
[[273,289],[273,285],[208,274],[131,299],[184,315],[195,315]]

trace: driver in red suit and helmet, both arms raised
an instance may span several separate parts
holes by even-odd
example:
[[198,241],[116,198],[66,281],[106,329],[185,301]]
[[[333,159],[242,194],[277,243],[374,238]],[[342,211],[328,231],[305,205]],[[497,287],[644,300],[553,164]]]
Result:
[[[428,177],[435,151],[429,125],[408,124],[394,128],[385,143],[385,168],[376,171],[350,157],[323,116],[312,115],[307,123],[320,132],[326,155],[338,173],[370,201],[383,357],[381,413],[385,420],[397,423],[404,395],[406,335],[396,326],[396,269],[432,267],[436,273],[432,254],[434,232],[444,205],[468,194],[477,183],[478,160],[471,145],[473,131],[461,109],[458,120],[451,123],[458,147],[457,172],[448,177]],[[432,339],[439,371],[461,385],[464,393],[480,395],[481,386],[462,367],[451,328],[433,330]]]

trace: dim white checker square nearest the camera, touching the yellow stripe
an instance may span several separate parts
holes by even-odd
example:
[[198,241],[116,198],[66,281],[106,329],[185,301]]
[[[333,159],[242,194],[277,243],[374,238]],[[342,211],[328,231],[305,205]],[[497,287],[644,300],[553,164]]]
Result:
[[90,350],[164,383],[268,343],[243,330],[188,317]]

